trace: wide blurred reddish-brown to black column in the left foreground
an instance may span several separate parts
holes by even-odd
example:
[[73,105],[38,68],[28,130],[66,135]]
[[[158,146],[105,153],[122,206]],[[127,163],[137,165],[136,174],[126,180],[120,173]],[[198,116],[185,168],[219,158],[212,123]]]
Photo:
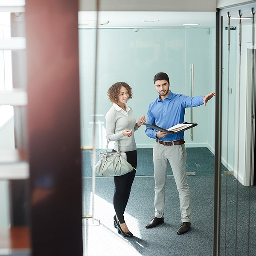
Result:
[[82,256],[78,1],[26,0],[33,256]]

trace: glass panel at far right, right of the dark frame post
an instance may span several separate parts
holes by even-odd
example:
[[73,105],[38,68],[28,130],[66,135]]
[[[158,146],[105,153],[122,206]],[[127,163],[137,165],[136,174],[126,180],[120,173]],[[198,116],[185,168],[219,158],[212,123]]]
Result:
[[216,225],[214,255],[255,254],[255,9],[255,2],[225,8],[217,20],[216,88],[222,95],[222,132],[218,132],[225,170],[218,189],[215,186],[220,215],[215,216],[219,230]]

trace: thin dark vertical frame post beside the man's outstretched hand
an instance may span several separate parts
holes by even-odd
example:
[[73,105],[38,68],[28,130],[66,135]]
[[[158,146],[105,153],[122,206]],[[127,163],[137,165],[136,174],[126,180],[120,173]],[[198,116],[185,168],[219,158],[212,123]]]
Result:
[[222,126],[222,17],[216,13],[216,108],[214,163],[213,256],[220,255],[221,226],[221,126]]

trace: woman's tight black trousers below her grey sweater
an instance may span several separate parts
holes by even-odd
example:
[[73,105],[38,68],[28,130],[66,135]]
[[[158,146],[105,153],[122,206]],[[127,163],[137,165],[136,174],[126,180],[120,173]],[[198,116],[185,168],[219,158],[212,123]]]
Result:
[[[114,149],[112,152],[116,152]],[[137,168],[137,150],[125,152],[128,163],[135,169]],[[134,181],[136,170],[126,173],[122,176],[114,176],[115,192],[113,198],[113,205],[116,211],[116,216],[120,223],[125,223],[124,212],[128,203],[131,192],[131,185]]]

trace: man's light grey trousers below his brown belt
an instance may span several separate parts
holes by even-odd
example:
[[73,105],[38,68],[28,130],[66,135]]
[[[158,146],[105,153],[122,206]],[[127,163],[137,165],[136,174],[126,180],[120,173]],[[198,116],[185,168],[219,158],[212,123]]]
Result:
[[191,222],[191,203],[186,176],[186,147],[182,145],[165,146],[155,142],[153,149],[155,179],[155,217],[162,218],[168,163],[172,167],[180,198],[181,222]]

